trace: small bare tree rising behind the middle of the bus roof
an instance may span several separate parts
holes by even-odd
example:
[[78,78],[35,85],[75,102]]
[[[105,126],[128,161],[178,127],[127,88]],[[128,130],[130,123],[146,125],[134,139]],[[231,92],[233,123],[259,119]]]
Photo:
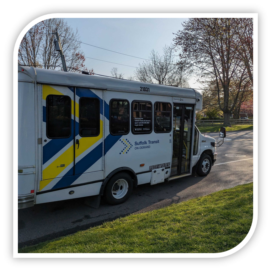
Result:
[[166,45],[163,48],[162,56],[151,50],[149,61],[144,61],[136,68],[135,78],[146,83],[183,86],[189,78],[184,72],[184,67],[176,65],[174,53],[175,50],[172,45]]

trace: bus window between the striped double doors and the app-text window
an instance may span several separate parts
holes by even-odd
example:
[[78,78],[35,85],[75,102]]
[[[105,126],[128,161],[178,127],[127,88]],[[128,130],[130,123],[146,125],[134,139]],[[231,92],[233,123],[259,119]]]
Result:
[[109,127],[111,135],[127,135],[130,131],[130,106],[127,100],[110,100]]

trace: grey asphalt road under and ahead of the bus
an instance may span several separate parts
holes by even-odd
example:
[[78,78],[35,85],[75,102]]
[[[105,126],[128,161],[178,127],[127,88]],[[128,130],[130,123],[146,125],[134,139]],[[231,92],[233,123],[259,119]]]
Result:
[[[216,141],[220,140],[218,132],[208,135]],[[253,130],[227,132],[225,139],[227,141],[217,148],[217,161],[206,177],[192,175],[153,186],[143,184],[134,188],[131,197],[121,205],[111,206],[101,202],[100,207],[94,209],[85,205],[81,198],[18,210],[19,247],[252,182]],[[246,157],[226,157],[225,154],[229,153]]]

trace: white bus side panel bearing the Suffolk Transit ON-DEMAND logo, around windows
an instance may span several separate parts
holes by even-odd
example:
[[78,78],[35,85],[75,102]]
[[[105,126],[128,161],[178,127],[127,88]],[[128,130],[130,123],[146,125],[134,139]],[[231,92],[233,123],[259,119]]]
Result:
[[[155,102],[172,104],[172,97],[159,95],[146,95],[145,93],[123,93],[116,91],[106,92],[106,102],[110,107],[110,100],[127,99],[130,103],[130,120],[133,118],[132,102],[134,100],[150,101],[152,103],[152,132],[149,134],[133,134],[130,121],[130,132],[127,135],[111,135],[109,121],[106,122],[105,163],[106,176],[119,167],[131,168],[135,173],[151,172],[156,168],[168,168],[172,156],[172,130],[168,133],[155,133],[153,127]],[[109,116],[110,118],[110,116]],[[110,140],[109,140],[110,139]],[[141,143],[140,143],[141,142]],[[144,166],[140,166],[144,164]],[[141,175],[141,176],[140,176]],[[149,183],[150,174],[139,174],[139,184]],[[164,178],[168,175],[165,174]]]

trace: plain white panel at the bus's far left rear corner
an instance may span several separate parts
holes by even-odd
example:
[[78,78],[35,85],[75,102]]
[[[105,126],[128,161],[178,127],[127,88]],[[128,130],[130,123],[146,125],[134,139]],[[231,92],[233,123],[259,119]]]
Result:
[[18,82],[18,195],[34,194],[35,94],[34,83]]

